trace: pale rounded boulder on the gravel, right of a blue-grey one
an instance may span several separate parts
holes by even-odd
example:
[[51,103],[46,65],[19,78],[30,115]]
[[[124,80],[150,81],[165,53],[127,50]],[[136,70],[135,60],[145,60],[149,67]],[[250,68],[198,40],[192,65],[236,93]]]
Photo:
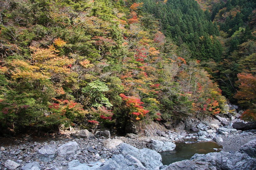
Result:
[[60,157],[70,157],[81,153],[81,150],[79,145],[75,141],[72,141],[62,144],[58,147],[57,152]]

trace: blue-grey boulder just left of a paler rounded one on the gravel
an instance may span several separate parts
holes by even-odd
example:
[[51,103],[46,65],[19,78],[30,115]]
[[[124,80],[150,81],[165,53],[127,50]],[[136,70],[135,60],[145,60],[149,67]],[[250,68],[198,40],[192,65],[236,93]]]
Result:
[[43,146],[37,152],[39,160],[43,162],[52,161],[56,156],[56,153],[57,153],[56,149],[57,149],[56,144],[49,144],[49,145]]

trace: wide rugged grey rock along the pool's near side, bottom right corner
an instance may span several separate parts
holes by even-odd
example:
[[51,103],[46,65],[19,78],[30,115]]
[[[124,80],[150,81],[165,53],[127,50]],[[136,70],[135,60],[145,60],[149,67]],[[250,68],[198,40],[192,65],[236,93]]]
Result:
[[205,155],[196,153],[190,160],[209,162],[217,170],[255,169],[256,167],[256,159],[240,152],[229,153],[221,151],[211,152]]

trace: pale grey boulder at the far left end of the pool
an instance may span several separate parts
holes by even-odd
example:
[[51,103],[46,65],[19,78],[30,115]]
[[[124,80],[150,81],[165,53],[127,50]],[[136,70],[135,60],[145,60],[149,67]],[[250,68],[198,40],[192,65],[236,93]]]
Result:
[[150,140],[150,144],[148,145],[149,149],[155,150],[156,152],[165,152],[165,151],[173,151],[176,147],[176,144],[172,142],[162,142],[158,140]]

